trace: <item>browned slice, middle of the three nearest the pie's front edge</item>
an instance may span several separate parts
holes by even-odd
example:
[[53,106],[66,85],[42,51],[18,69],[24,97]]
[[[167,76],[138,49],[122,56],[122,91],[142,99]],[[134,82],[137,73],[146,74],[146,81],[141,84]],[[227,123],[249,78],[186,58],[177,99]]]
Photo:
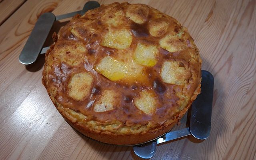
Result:
[[114,90],[103,90],[94,103],[95,112],[106,112],[121,105],[120,94]]

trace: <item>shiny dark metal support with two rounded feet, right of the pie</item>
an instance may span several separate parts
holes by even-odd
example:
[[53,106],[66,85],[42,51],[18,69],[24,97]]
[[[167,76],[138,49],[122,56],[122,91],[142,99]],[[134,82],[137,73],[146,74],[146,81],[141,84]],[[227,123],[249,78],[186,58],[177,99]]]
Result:
[[134,146],[134,153],[140,158],[151,158],[156,152],[156,145],[191,135],[197,139],[204,140],[210,136],[212,99],[214,78],[206,70],[202,70],[201,94],[192,103],[190,127],[166,133],[154,142],[143,146]]

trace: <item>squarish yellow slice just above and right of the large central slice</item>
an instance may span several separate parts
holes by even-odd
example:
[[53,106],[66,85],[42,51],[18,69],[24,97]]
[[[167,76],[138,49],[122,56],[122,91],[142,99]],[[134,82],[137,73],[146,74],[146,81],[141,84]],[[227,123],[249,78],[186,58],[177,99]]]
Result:
[[133,60],[144,66],[154,66],[158,61],[157,46],[138,43],[134,51]]

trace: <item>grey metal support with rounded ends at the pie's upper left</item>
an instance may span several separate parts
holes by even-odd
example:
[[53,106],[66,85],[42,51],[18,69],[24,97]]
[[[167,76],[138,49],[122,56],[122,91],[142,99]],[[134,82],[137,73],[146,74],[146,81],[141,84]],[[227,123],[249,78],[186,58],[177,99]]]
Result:
[[88,10],[97,8],[99,6],[100,6],[100,4],[98,2],[89,1],[86,4],[84,4],[84,7],[82,10],[79,10],[76,12],[62,14],[59,16],[55,16],[54,14],[52,14],[50,12],[42,14],[38,18],[30,36],[28,37],[28,40],[27,40],[23,50],[20,53],[20,56],[19,56],[20,63],[32,64],[36,61],[39,54],[46,53],[46,51],[50,47],[49,46],[44,47],[44,48],[42,48],[42,47],[44,45],[44,42],[45,42],[51,28],[52,28],[54,21],[62,20],[65,18],[70,18],[70,17],[75,16],[76,14],[83,15]]

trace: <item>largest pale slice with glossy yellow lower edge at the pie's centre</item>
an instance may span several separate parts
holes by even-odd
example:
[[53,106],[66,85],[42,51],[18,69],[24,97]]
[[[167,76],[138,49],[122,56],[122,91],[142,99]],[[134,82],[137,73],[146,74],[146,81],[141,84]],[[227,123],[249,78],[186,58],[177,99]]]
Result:
[[127,73],[126,65],[110,56],[102,58],[100,63],[94,67],[94,70],[112,81],[124,78]]

